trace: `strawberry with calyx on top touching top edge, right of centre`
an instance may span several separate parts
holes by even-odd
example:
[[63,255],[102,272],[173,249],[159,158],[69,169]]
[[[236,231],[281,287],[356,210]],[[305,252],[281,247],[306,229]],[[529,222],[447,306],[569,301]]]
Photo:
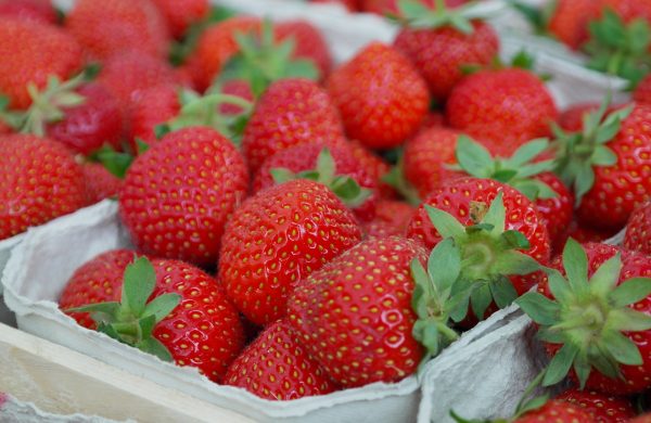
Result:
[[418,0],[400,4],[404,27],[394,46],[413,62],[435,100],[447,99],[463,78],[463,66],[487,66],[497,57],[499,40],[483,21]]

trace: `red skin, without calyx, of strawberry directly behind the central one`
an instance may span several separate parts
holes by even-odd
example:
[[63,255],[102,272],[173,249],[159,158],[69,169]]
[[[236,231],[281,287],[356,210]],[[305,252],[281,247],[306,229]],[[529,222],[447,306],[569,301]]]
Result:
[[[335,174],[348,176],[354,179],[359,187],[373,191],[373,194],[367,198],[366,202],[353,209],[355,216],[361,221],[372,220],[375,216],[375,203],[378,202],[375,191],[378,190],[378,185],[373,178],[366,172],[359,162],[355,159],[350,150],[346,149],[344,145],[345,144],[341,144],[341,146],[332,146],[329,149],[336,168]],[[285,168],[294,174],[315,169],[317,167],[319,154],[326,146],[327,145],[318,143],[298,144],[276,153],[265,161],[263,167],[258,170],[253,181],[253,192],[255,193],[276,184],[273,177],[271,176],[272,169]]]

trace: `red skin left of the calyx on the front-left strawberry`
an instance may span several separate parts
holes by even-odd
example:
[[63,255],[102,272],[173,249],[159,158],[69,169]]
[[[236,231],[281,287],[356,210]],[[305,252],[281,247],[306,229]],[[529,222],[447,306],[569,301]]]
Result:
[[[138,256],[129,249],[111,249],[86,261],[75,270],[63,289],[59,308],[65,311],[73,307],[119,300],[125,269]],[[88,312],[66,313],[84,328],[97,328]]]

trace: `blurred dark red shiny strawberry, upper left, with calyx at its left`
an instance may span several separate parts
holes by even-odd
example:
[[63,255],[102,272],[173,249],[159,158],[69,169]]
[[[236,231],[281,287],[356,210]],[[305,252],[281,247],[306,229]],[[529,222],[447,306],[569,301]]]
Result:
[[63,120],[47,126],[48,137],[84,155],[90,155],[103,145],[118,150],[123,119],[117,100],[99,84],[82,86],[77,93],[86,99],[84,104],[64,108]]

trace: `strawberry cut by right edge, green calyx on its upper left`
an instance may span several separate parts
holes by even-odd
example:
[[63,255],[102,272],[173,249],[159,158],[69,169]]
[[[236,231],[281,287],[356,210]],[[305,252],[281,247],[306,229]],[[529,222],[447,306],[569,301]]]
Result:
[[579,221],[597,229],[624,227],[651,198],[651,106],[631,107],[604,119],[604,103],[582,133],[557,130],[556,171],[574,189]]

